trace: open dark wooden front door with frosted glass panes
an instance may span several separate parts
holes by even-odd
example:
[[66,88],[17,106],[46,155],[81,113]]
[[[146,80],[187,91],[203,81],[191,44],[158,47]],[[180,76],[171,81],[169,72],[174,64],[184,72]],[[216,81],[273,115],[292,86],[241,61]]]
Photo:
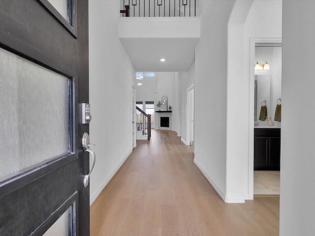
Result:
[[88,0],[59,2],[0,0],[1,236],[90,235]]

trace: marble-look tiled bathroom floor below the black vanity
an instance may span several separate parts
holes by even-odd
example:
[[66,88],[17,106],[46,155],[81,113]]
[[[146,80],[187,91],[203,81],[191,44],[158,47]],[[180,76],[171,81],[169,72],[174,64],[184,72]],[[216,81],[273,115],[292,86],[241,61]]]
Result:
[[279,195],[280,171],[254,171],[254,194]]

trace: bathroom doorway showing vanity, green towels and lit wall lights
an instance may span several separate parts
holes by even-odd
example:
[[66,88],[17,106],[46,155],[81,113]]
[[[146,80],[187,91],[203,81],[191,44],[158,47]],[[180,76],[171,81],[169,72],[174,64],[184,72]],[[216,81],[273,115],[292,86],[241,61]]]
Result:
[[252,40],[250,159],[253,195],[280,195],[281,39]]

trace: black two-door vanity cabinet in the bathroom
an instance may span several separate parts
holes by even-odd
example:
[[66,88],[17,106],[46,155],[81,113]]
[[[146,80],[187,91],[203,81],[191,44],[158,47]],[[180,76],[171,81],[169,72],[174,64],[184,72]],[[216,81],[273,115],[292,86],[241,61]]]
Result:
[[254,170],[280,171],[280,128],[254,129]]

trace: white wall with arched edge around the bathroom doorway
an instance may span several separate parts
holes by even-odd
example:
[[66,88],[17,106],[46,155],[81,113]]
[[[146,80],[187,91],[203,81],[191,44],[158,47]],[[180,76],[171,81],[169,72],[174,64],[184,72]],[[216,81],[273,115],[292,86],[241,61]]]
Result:
[[282,36],[282,0],[236,0],[234,9],[228,27],[226,198],[244,202],[252,199],[253,187],[248,174],[253,170],[249,137],[253,137],[254,116],[250,42],[251,38]]

